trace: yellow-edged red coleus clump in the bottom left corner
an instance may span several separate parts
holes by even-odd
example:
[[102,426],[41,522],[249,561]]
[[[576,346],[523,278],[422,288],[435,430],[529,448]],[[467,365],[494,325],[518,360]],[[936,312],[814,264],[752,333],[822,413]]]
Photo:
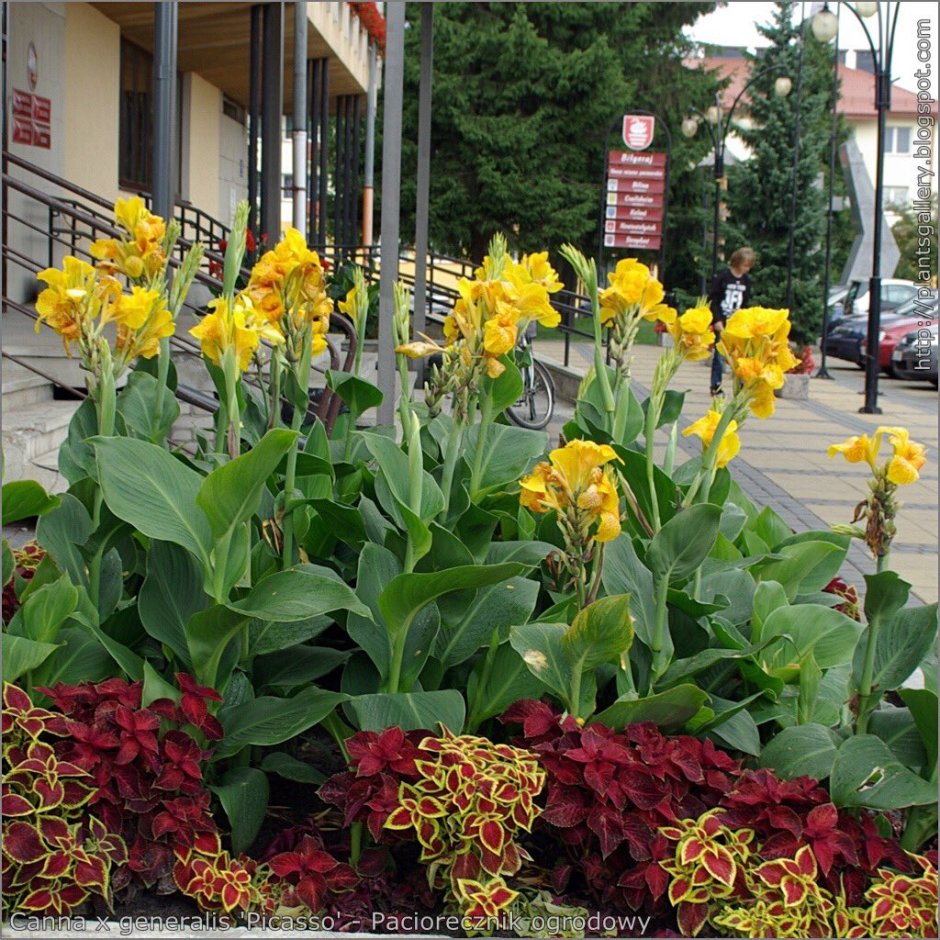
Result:
[[65,733],[61,716],[3,688],[3,897],[22,911],[65,915],[91,895],[111,905],[112,869],[124,840],[88,812],[90,775],[63,760],[44,736]]

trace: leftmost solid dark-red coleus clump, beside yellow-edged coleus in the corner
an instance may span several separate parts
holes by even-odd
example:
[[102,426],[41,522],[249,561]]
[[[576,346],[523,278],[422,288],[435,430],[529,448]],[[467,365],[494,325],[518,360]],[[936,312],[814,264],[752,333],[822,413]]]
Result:
[[216,831],[201,768],[209,752],[194,735],[221,736],[207,707],[219,696],[186,675],[177,684],[179,703],[160,699],[146,708],[142,684],[123,679],[40,690],[66,716],[68,738],[57,755],[88,775],[89,810],[129,846],[117,887],[136,876],[158,892],[173,891],[174,848]]

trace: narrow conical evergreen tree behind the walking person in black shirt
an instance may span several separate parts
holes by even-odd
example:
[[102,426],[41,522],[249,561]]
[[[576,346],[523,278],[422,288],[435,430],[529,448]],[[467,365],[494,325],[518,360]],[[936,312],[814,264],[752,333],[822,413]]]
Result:
[[[829,155],[832,50],[813,37],[809,19],[793,24],[795,6],[793,0],[781,0],[773,21],[758,27],[770,46],[749,56],[751,76],[782,68],[758,78],[748,91],[753,126],[738,133],[753,157],[729,172],[728,205],[729,238],[735,247],[750,245],[758,255],[751,275],[754,302],[785,307],[795,183],[791,321],[794,339],[805,342],[816,335],[822,317],[826,194],[820,174],[826,172]],[[793,83],[786,97],[774,95],[782,74]]]

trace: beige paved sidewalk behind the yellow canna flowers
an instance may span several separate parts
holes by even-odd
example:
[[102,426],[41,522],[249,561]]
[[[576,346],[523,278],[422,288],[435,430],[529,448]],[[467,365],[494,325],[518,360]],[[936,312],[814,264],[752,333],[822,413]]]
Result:
[[[662,349],[637,346],[633,382],[642,399]],[[538,343],[539,358],[561,363],[561,341]],[[593,362],[593,347],[572,343],[569,366],[583,372]],[[687,390],[680,426],[708,410],[708,363],[686,363],[672,388]],[[898,535],[892,546],[891,567],[912,585],[912,594],[924,603],[937,600],[937,464],[936,398],[923,401],[891,394],[883,396],[884,414],[858,413],[861,399],[850,381],[835,371],[835,381],[813,381],[809,401],[777,399],[777,409],[767,420],[749,417],[740,431],[741,451],[731,464],[735,479],[760,505],[772,506],[797,531],[825,529],[833,523],[851,522],[855,505],[868,492],[868,467],[829,458],[826,449],[853,434],[871,433],[879,425],[902,425],[911,437],[927,445],[928,463],[920,480],[900,492],[904,506],[898,518]],[[888,383],[890,388],[891,383]],[[665,435],[660,432],[662,441]],[[701,450],[698,438],[680,436],[688,454]],[[885,445],[883,453],[887,454]],[[864,587],[862,576],[874,572],[874,562],[860,542],[853,542],[843,577]]]

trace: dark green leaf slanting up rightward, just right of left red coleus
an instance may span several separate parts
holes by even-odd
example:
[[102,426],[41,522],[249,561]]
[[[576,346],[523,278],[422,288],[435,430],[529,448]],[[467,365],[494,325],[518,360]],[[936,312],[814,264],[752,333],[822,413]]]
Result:
[[310,686],[292,698],[264,695],[220,712],[225,737],[215,757],[229,757],[247,744],[280,744],[326,718],[347,696]]

